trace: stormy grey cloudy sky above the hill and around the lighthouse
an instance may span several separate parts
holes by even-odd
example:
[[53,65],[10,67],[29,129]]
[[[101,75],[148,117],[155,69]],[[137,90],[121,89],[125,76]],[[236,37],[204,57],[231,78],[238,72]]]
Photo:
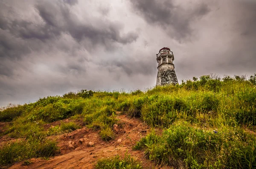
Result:
[[0,0],[0,106],[153,87],[163,47],[179,82],[253,75],[256,0]]

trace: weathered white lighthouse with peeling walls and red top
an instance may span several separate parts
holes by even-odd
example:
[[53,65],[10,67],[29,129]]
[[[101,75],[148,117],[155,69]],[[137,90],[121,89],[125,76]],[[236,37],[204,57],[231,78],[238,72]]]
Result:
[[157,86],[178,84],[177,76],[174,70],[174,55],[169,48],[162,48],[157,54]]

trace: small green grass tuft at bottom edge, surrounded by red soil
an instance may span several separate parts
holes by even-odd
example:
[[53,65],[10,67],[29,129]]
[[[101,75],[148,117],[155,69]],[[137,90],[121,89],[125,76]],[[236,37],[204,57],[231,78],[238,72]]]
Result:
[[102,158],[96,163],[96,169],[142,169],[131,155],[125,155],[125,158],[120,158],[116,155],[113,158]]

